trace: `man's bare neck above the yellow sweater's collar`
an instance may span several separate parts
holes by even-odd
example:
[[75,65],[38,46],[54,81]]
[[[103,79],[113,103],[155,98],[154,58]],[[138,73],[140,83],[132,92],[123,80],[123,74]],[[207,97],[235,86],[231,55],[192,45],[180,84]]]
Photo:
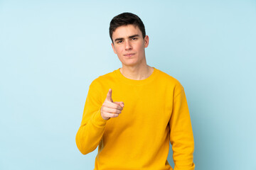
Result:
[[153,71],[154,68],[147,64],[140,67],[125,67],[123,65],[123,67],[120,68],[120,72],[124,77],[134,80],[146,79],[153,73]]

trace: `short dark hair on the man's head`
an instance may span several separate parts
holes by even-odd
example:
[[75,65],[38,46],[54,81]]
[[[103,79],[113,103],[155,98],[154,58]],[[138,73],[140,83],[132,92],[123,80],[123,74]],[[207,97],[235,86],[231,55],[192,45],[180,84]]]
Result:
[[114,16],[114,18],[112,18],[112,21],[110,21],[110,39],[112,40],[112,34],[114,30],[116,30],[119,26],[127,26],[129,24],[138,26],[139,30],[142,31],[142,37],[145,38],[146,30],[139,16],[135,15],[134,13],[125,12]]

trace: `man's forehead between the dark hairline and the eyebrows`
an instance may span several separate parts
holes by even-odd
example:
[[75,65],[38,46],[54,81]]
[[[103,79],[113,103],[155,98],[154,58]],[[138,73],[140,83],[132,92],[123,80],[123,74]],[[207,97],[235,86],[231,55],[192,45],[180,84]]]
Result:
[[116,30],[114,30],[112,34],[113,40],[115,38],[128,38],[132,35],[140,35],[142,36],[142,31],[139,30],[138,26],[134,26],[132,24],[129,24],[127,26],[119,26]]

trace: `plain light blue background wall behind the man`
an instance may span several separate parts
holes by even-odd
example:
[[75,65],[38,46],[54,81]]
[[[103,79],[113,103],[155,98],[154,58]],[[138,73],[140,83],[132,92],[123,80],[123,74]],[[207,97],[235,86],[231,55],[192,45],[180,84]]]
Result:
[[124,11],[144,21],[147,64],[185,88],[196,169],[256,169],[248,0],[0,0],[0,169],[93,169],[97,149],[80,154],[75,134],[91,81],[122,67],[108,28]]

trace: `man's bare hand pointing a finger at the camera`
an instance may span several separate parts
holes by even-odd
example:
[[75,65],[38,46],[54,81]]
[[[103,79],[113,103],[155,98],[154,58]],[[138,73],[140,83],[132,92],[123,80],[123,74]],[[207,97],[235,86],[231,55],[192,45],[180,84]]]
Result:
[[124,102],[112,100],[112,89],[107,93],[107,98],[105,99],[102,107],[100,108],[100,114],[103,119],[108,120],[110,118],[116,118],[123,110]]

